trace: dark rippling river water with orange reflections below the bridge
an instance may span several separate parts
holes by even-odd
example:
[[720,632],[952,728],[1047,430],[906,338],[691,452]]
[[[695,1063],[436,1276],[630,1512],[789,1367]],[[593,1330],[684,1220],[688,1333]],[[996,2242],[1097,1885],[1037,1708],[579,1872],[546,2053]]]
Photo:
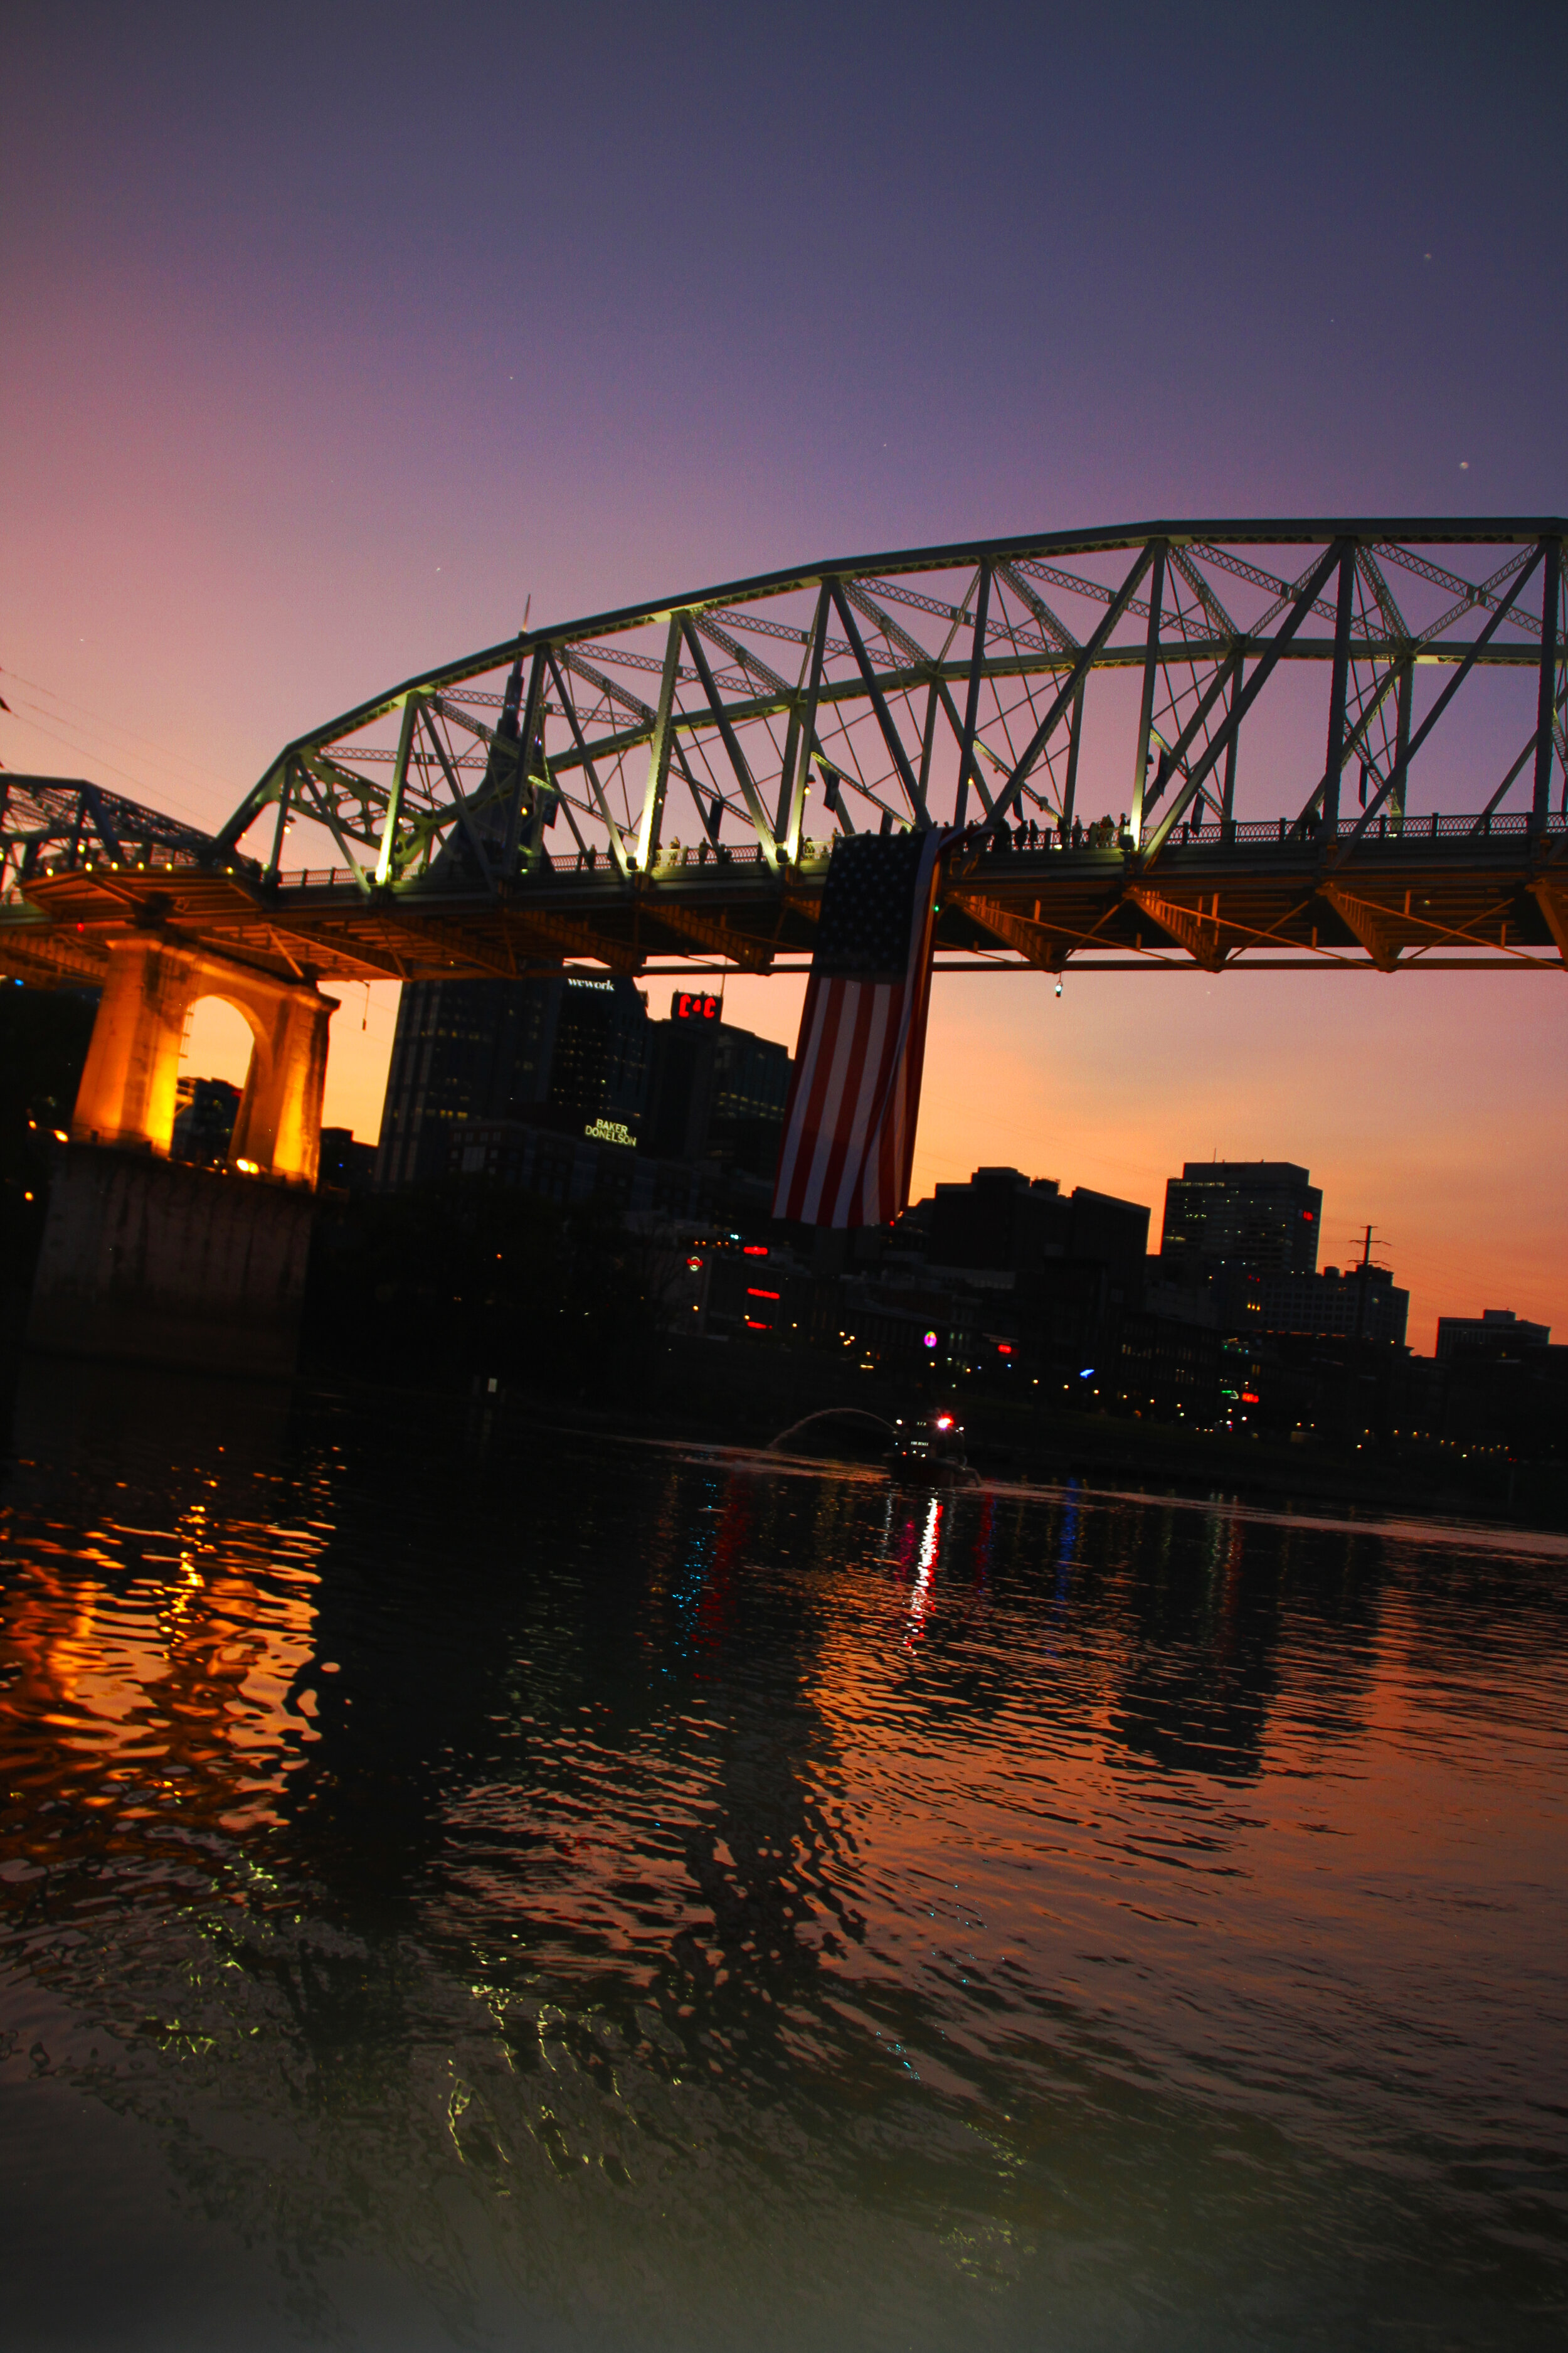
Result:
[[31,1374],[0,2341],[1561,2346],[1568,1546]]

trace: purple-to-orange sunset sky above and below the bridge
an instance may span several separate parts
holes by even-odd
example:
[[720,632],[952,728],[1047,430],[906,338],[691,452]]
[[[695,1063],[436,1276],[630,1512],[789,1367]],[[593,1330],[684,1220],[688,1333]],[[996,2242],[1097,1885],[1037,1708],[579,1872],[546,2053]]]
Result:
[[[1561,513],[1566,66],[1530,5],[12,0],[0,758],[216,824],[529,595]],[[374,1134],[362,995],[329,1108]],[[731,1005],[792,1038],[799,984]],[[1011,1160],[1157,1231],[1182,1158],[1305,1160],[1418,1348],[1566,1337],[1566,1016],[1554,974],[950,979],[917,1181]]]

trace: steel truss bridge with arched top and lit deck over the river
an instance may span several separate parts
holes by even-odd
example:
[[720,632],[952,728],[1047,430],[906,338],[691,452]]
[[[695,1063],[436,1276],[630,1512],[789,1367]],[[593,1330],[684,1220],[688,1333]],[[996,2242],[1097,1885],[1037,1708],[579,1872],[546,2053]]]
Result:
[[835,838],[940,826],[938,969],[1563,969],[1566,532],[1154,522],[731,581],[404,680],[216,835],[0,776],[0,967],[158,929],[308,981],[797,969]]

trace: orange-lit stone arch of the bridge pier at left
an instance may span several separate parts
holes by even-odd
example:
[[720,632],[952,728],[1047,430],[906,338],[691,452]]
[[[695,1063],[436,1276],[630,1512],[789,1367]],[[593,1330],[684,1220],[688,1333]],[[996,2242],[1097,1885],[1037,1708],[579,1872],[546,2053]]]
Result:
[[230,965],[202,948],[132,932],[108,951],[108,981],[75,1099],[75,1144],[115,1144],[167,1158],[174,1139],[179,1049],[200,998],[233,1005],[252,1061],[228,1165],[313,1186],[322,1148],[327,1024],[334,998],[308,981]]

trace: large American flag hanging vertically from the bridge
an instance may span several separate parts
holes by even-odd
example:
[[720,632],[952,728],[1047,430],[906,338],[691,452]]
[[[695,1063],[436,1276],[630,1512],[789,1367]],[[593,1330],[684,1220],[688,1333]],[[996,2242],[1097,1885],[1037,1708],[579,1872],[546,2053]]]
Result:
[[910,1198],[940,847],[940,833],[851,833],[835,845],[773,1217],[882,1226]]

